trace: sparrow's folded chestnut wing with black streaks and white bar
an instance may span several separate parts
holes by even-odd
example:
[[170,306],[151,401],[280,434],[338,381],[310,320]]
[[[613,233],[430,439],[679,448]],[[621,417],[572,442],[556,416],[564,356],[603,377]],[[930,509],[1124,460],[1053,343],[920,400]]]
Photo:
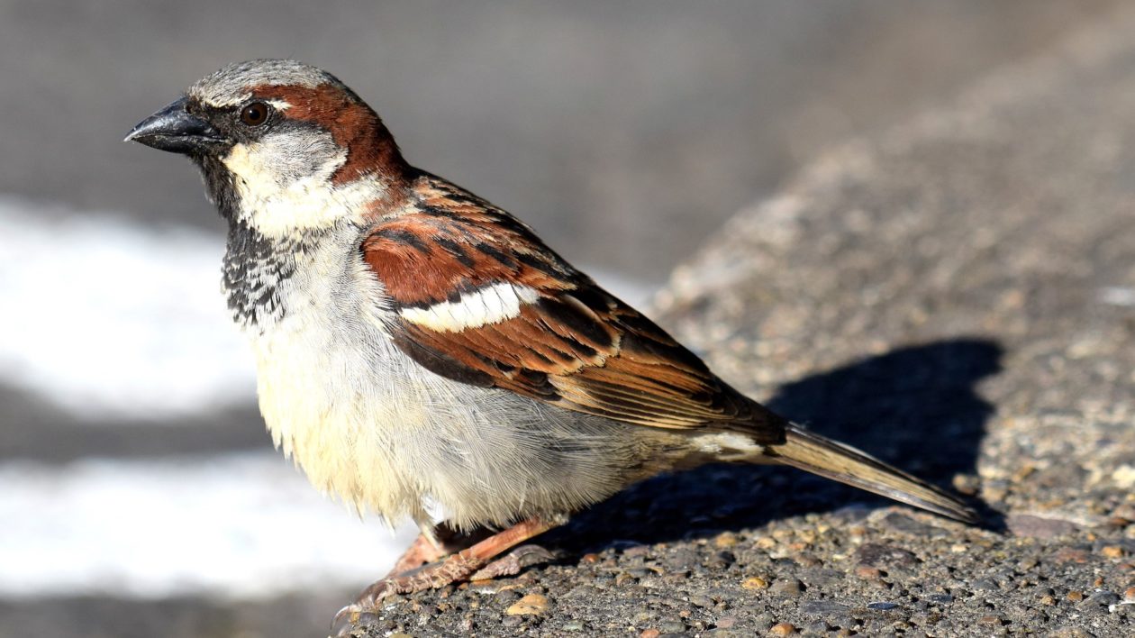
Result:
[[437,182],[420,198],[417,212],[376,226],[362,245],[394,302],[394,341],[414,361],[451,379],[628,423],[713,426],[783,442],[785,421],[528,227]]

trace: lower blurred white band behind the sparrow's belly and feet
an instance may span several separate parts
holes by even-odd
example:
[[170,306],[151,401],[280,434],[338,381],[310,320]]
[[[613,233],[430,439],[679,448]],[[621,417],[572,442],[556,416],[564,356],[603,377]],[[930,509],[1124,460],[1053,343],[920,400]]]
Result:
[[268,452],[0,464],[0,598],[361,589],[417,534],[364,524]]

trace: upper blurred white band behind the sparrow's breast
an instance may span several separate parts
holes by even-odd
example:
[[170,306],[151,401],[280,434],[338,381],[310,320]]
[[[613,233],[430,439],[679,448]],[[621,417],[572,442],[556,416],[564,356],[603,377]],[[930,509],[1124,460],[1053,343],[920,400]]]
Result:
[[0,377],[79,417],[211,411],[255,392],[224,240],[0,196]]

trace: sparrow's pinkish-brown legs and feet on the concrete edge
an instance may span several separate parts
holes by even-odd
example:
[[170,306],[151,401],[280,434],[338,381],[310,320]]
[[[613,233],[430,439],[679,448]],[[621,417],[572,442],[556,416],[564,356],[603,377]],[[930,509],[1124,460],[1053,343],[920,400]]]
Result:
[[[565,521],[566,519],[564,518],[528,519],[474,543],[465,549],[449,554],[436,563],[411,570],[409,573],[384,578],[364,589],[354,604],[339,610],[339,613],[335,614],[334,622],[338,624],[343,619],[358,618],[358,614],[375,608],[379,601],[393,594],[410,594],[412,591],[421,591],[422,589],[445,587],[459,580],[468,580],[470,576],[478,573],[486,565],[491,568],[490,561],[503,552],[515,547],[533,536],[561,526]],[[418,543],[415,542],[414,544],[417,545]],[[413,547],[411,547],[411,552],[413,552]],[[407,554],[411,552],[407,552]],[[506,556],[503,559],[506,562],[499,569],[507,570],[507,568],[514,564],[514,569],[519,571],[524,566],[522,559],[529,555],[529,551],[526,551],[518,553],[514,557]],[[507,571],[496,571],[496,569],[498,568],[489,570],[490,576],[508,573]]]

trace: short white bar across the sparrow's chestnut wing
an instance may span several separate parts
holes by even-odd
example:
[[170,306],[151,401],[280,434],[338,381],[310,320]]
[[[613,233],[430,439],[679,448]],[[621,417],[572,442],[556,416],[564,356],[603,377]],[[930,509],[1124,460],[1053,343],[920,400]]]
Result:
[[439,333],[457,333],[520,317],[522,304],[535,303],[539,294],[528,287],[501,282],[464,293],[457,301],[428,308],[405,308],[403,319]]

